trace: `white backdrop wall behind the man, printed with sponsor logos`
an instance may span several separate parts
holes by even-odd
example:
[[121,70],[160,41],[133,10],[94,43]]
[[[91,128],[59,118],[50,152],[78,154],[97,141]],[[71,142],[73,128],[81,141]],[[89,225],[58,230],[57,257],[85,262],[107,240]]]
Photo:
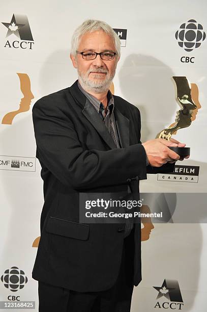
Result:
[[[155,138],[161,129],[174,122],[179,107],[174,99],[171,76],[187,76],[198,86],[200,108],[196,119],[189,128],[181,129],[174,136],[191,147],[191,158],[180,165],[199,166],[198,183],[164,181],[158,180],[157,175],[149,175],[141,182],[140,189],[142,192],[206,193],[207,39],[188,52],[178,45],[175,32],[182,23],[194,19],[206,33],[207,4],[204,0],[2,0],[0,9],[1,123],[7,113],[19,109],[22,93],[17,73],[28,75],[34,95],[28,111],[17,114],[12,124],[0,124],[0,275],[11,267],[18,267],[28,278],[24,287],[16,292],[1,281],[0,300],[20,296],[20,301],[36,301],[38,311],[38,283],[31,276],[37,247],[32,245],[40,235],[43,184],[38,160],[35,166],[32,106],[40,97],[66,88],[77,79],[69,58],[73,31],[87,18],[104,20],[114,29],[127,29],[126,46],[121,48],[113,81],[114,93],[140,109],[142,141]],[[9,25],[13,14],[27,16],[34,39],[32,49],[28,40],[15,35],[16,31],[6,37],[8,28],[3,23]],[[6,45],[7,40],[11,47]],[[15,46],[26,41],[22,46],[27,47],[13,47],[15,40],[19,41]],[[194,57],[194,63],[183,63],[182,57]],[[28,158],[32,160],[31,167]],[[6,164],[6,160],[10,163]],[[12,160],[20,161],[20,165],[23,160],[24,164],[14,168]],[[198,215],[199,208],[198,202],[195,206]],[[176,210],[179,210],[178,204]],[[206,243],[204,223],[154,224],[150,238],[142,242],[142,282],[134,289],[132,312],[164,310],[163,302],[168,302],[165,306],[170,309],[172,301],[165,296],[156,299],[158,292],[153,288],[162,288],[164,279],[178,281],[182,310],[206,311]],[[155,307],[158,301],[160,308]],[[171,305],[171,309],[174,307],[179,309],[178,305]]]

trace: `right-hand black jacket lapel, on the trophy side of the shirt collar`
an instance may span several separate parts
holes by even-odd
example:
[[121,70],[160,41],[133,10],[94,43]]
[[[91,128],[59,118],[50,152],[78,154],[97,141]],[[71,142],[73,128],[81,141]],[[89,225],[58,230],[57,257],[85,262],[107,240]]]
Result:
[[121,147],[127,147],[129,146],[129,119],[122,115],[122,113],[117,109],[117,105],[114,105],[114,116]]

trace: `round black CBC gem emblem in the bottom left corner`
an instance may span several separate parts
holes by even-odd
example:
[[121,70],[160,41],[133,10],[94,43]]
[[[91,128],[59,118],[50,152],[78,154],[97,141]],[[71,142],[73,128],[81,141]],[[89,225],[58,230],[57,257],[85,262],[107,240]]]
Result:
[[1,280],[11,292],[17,292],[19,289],[22,289],[28,281],[24,271],[17,267],[6,270],[1,276]]

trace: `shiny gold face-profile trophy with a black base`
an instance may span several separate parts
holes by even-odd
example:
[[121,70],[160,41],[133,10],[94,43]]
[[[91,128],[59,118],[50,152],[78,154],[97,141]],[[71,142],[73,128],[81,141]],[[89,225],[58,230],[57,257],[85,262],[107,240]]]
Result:
[[[175,123],[163,129],[156,139],[170,140],[172,134],[181,128],[189,127],[191,124],[192,111],[197,107],[191,97],[191,84],[185,76],[172,76],[177,90],[176,101],[181,109],[177,112]],[[190,147],[169,147],[180,156],[190,155]]]

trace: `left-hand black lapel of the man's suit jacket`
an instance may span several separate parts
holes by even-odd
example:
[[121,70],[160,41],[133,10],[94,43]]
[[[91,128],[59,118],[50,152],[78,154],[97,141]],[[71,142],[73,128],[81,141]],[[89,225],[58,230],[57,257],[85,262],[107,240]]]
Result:
[[92,105],[92,103],[86,98],[85,106],[82,110],[83,115],[87,118],[88,121],[92,123],[92,125],[96,128],[100,136],[103,140],[108,144],[110,148],[116,148],[116,145],[108,132],[107,127],[101,120],[99,114],[96,109]]

